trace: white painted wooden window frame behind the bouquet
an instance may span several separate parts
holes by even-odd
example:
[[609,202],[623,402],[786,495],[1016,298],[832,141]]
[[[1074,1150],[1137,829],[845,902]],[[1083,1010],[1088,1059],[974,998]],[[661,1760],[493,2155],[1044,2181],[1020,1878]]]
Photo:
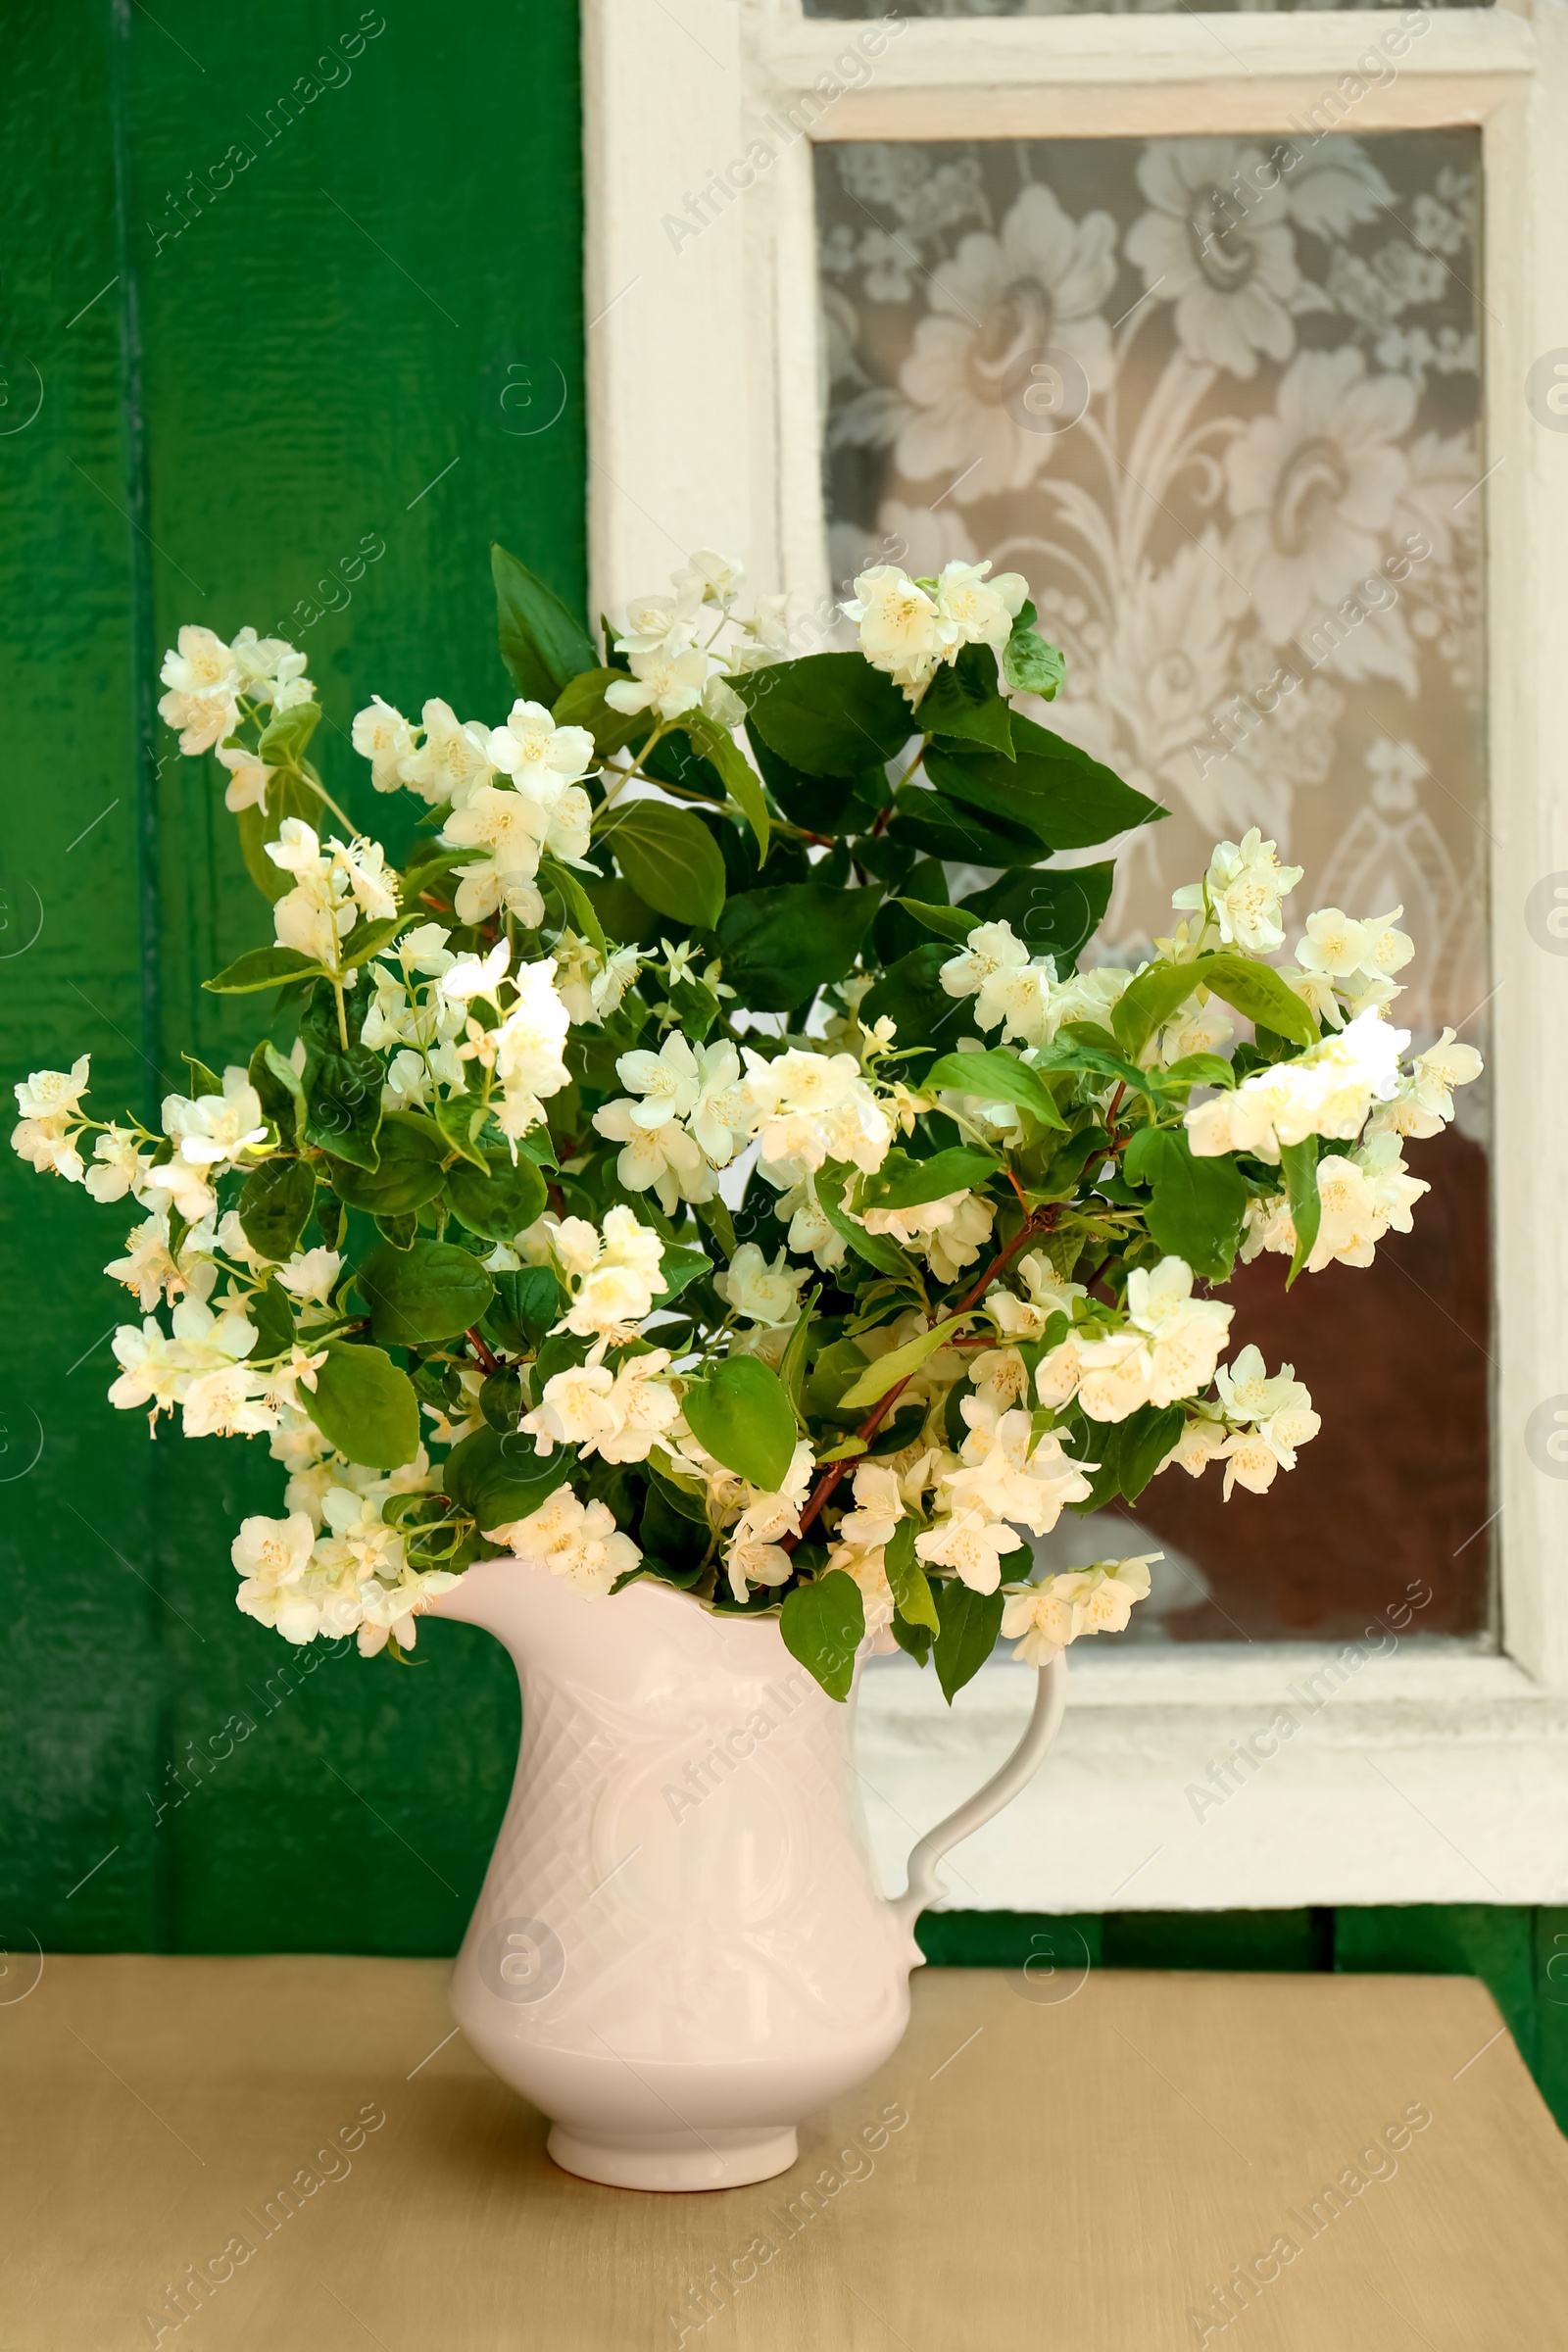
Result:
[[[733,548],[762,586],[827,593],[811,134],[1279,134],[1399,21],[914,21],[835,71],[867,61],[875,24],[806,21],[799,0],[585,0],[595,612],[663,583],[693,546]],[[1526,1454],[1530,1411],[1568,1392],[1568,1098],[1552,1077],[1568,957],[1523,922],[1530,887],[1568,868],[1568,435],[1542,430],[1523,395],[1530,362],[1568,346],[1568,9],[1434,9],[1340,127],[1439,122],[1481,127],[1486,186],[1500,1649],[1084,1644],[1060,1748],[959,1849],[957,1905],[1568,1900],[1568,1479]],[[795,125],[809,129],[785,143]],[[776,153],[741,188],[757,139]],[[710,226],[682,235],[705,188]],[[1333,1444],[1333,1397],[1319,1402]],[[1274,1508],[1291,1510],[1288,1482]],[[999,1663],[947,1712],[907,1661],[865,1677],[860,1764],[889,1875],[910,1825],[1006,1750],[1030,1684]],[[1269,1733],[1279,1710],[1298,1722],[1288,1736]]]

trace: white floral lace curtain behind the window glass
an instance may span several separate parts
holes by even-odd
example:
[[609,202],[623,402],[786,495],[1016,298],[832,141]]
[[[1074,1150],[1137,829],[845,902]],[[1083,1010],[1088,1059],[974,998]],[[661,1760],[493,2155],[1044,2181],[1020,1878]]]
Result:
[[[825,143],[835,579],[1018,569],[1048,722],[1171,818],[1100,960],[1258,823],[1486,997],[1476,134]],[[1093,957],[1091,957],[1093,960]]]

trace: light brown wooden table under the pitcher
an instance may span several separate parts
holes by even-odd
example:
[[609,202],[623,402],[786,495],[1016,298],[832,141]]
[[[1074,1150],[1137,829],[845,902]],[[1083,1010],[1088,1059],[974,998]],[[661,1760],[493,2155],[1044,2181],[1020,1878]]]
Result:
[[931,1969],[797,2169],[703,2197],[557,2171],[437,1962],[26,1980],[0,2352],[1568,2345],[1568,2147],[1460,1978]]

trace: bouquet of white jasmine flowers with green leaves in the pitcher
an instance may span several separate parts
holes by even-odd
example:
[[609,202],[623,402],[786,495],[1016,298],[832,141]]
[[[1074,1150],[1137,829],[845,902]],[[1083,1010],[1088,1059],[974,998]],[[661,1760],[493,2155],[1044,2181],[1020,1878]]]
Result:
[[273,943],[207,981],[266,1035],[160,1129],[89,1117],[87,1056],[16,1087],[16,1152],[136,1211],[110,1402],[268,1444],[233,1562],[287,1642],[402,1656],[498,1552],[778,1611],[835,1698],[867,1635],[952,1700],[999,1637],[1126,1625],[1150,1557],[1032,1581],[1023,1531],[1295,1465],[1312,1399],[1215,1291],[1371,1265],[1481,1068],[1389,1021],[1399,908],[1276,962],[1300,870],[1253,830],[1138,971],[1079,969],[1081,851],[1164,811],[1018,708],[1063,663],[1016,574],[877,564],[858,649],[797,656],[717,555],[602,654],[494,569],[510,715],[353,720],[423,804],[402,866],[308,757],[303,654],[165,661]]

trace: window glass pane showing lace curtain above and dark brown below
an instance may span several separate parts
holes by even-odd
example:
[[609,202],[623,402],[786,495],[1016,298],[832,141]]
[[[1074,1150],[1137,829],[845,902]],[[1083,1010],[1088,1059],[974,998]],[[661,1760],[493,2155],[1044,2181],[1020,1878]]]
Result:
[[[1135,964],[1255,823],[1305,868],[1288,946],[1312,908],[1403,906],[1399,1023],[1486,1051],[1476,132],[825,143],[816,172],[835,579],[1023,572],[1067,652],[1034,715],[1171,809],[1084,960]],[[1410,1581],[1413,1632],[1486,1630],[1483,1084],[1408,1145],[1432,1192],[1375,1265],[1227,1289],[1324,1432],[1267,1498],[1145,1491],[1143,1637],[1324,1639]]]

